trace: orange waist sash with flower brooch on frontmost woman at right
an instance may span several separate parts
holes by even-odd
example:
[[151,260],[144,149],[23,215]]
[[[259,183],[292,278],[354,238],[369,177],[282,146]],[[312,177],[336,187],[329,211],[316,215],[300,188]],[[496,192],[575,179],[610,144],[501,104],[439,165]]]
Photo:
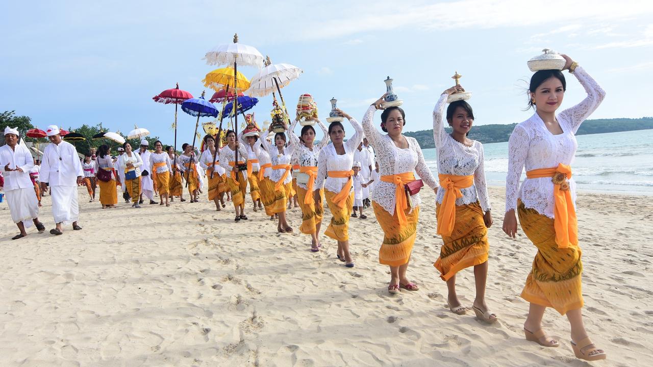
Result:
[[553,182],[553,226],[556,229],[556,244],[565,248],[578,246],[578,222],[576,210],[569,191],[571,167],[560,163],[556,168],[539,168],[526,172],[526,178],[552,177]]

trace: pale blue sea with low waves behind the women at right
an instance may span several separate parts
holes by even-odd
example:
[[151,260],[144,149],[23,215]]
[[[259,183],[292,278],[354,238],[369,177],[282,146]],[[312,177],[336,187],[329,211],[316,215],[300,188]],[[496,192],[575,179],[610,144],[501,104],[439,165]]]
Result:
[[[653,130],[576,136],[578,150],[571,163],[582,191],[653,195]],[[483,144],[488,185],[505,185],[508,143]],[[426,164],[437,176],[436,150],[424,149]],[[526,173],[522,172],[522,180]]]

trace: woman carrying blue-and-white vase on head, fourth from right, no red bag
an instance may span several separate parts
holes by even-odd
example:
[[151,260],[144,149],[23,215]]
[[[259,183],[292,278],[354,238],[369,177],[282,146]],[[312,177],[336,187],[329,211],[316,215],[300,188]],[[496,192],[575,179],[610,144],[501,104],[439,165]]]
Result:
[[332,122],[329,125],[328,136],[331,143],[322,148],[317,157],[317,177],[313,195],[315,200],[320,200],[319,189],[324,185],[328,208],[333,215],[325,234],[338,241],[338,259],[351,268],[354,266],[349,254],[349,217],[354,204],[354,193],[351,191],[351,176],[354,172],[351,167],[354,163],[354,151],[363,140],[363,129],[349,114],[340,109],[336,111],[349,120],[355,133],[345,142],[345,128],[342,123]]

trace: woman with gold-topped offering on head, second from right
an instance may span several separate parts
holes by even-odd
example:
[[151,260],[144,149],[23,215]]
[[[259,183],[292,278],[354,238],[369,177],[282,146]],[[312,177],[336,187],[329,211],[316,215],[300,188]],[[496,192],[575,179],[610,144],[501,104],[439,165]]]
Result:
[[[454,101],[447,107],[449,95],[463,92],[462,86],[445,90],[433,110],[433,138],[438,149],[440,189],[436,195],[438,234],[443,245],[434,266],[447,282],[449,309],[458,315],[467,309],[456,295],[456,273],[473,266],[476,296],[472,310],[488,323],[497,321],[485,304],[488,273],[487,229],[492,225],[488,189],[483,168],[483,144],[467,137],[474,116],[466,101]],[[445,131],[446,121],[453,131]]]

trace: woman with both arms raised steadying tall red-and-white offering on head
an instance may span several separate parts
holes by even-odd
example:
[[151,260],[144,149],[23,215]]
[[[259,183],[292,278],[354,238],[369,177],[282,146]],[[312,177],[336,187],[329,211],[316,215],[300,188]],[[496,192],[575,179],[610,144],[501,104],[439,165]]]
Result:
[[302,208],[302,225],[299,231],[304,234],[311,235],[311,251],[319,251],[319,233],[322,227],[322,216],[324,214],[324,189],[317,188],[317,196],[315,199],[313,191],[315,191],[315,177],[317,176],[317,157],[319,157],[320,150],[328,144],[328,131],[322,121],[317,118],[310,118],[309,121],[315,121],[322,129],[324,134],[319,144],[315,145],[315,128],[311,125],[302,127],[302,140],[295,135],[296,123],[299,121],[295,119],[293,125],[289,129],[290,144],[297,152],[297,159],[299,161],[298,172],[295,174],[297,182],[297,199]]

